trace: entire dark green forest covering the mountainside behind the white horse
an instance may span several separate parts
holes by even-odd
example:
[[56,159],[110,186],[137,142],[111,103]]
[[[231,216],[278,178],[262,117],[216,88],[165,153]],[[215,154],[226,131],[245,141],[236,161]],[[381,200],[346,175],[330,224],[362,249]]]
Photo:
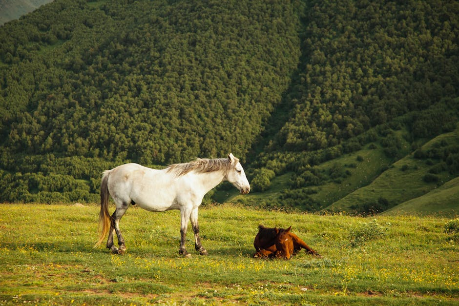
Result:
[[[423,149],[458,97],[457,1],[55,0],[0,27],[0,201],[97,202],[120,163],[230,152],[245,204],[326,209],[410,155],[428,192],[459,176],[459,140]],[[367,150],[358,180],[341,161]],[[354,210],[401,203],[375,199]]]

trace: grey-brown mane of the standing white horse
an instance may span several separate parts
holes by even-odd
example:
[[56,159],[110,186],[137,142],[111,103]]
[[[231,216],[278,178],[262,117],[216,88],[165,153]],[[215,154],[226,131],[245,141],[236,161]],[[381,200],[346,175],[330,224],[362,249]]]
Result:
[[[239,159],[234,158],[235,164]],[[174,163],[167,166],[167,171],[174,171],[175,176],[179,177],[187,174],[191,171],[196,171],[198,173],[220,171],[228,172],[231,168],[231,162],[228,158],[195,158],[192,162],[189,163]]]

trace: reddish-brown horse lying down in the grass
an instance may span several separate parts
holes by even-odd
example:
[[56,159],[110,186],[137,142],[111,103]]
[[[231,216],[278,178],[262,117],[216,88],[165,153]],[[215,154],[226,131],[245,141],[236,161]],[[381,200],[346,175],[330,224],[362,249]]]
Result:
[[310,248],[301,238],[293,234],[289,228],[271,228],[263,225],[258,226],[258,233],[253,241],[256,258],[284,258],[290,259],[292,255],[304,248],[308,253],[321,257]]

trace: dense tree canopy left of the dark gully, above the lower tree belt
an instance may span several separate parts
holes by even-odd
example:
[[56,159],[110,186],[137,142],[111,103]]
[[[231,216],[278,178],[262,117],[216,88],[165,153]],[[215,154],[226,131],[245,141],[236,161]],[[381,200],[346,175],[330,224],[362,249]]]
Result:
[[4,144],[142,163],[244,157],[298,58],[281,2],[56,1],[7,24]]

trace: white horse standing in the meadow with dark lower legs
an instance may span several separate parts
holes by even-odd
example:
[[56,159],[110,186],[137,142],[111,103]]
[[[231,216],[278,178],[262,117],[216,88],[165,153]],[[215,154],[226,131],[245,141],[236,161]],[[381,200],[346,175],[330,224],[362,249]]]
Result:
[[[137,163],[126,163],[104,171],[99,214],[100,234],[96,247],[101,245],[108,233],[107,248],[114,254],[125,252],[125,240],[121,235],[119,222],[129,205],[137,204],[149,211],[179,209],[179,253],[191,257],[185,248],[188,220],[191,220],[196,251],[201,255],[207,255],[199,237],[198,207],[206,193],[224,180],[233,184],[242,194],[250,191],[244,169],[232,153],[228,158],[197,158],[190,163],[176,163],[162,170],[147,168]],[[108,214],[109,196],[116,204],[115,212],[111,216]],[[119,248],[113,244],[115,233]]]

